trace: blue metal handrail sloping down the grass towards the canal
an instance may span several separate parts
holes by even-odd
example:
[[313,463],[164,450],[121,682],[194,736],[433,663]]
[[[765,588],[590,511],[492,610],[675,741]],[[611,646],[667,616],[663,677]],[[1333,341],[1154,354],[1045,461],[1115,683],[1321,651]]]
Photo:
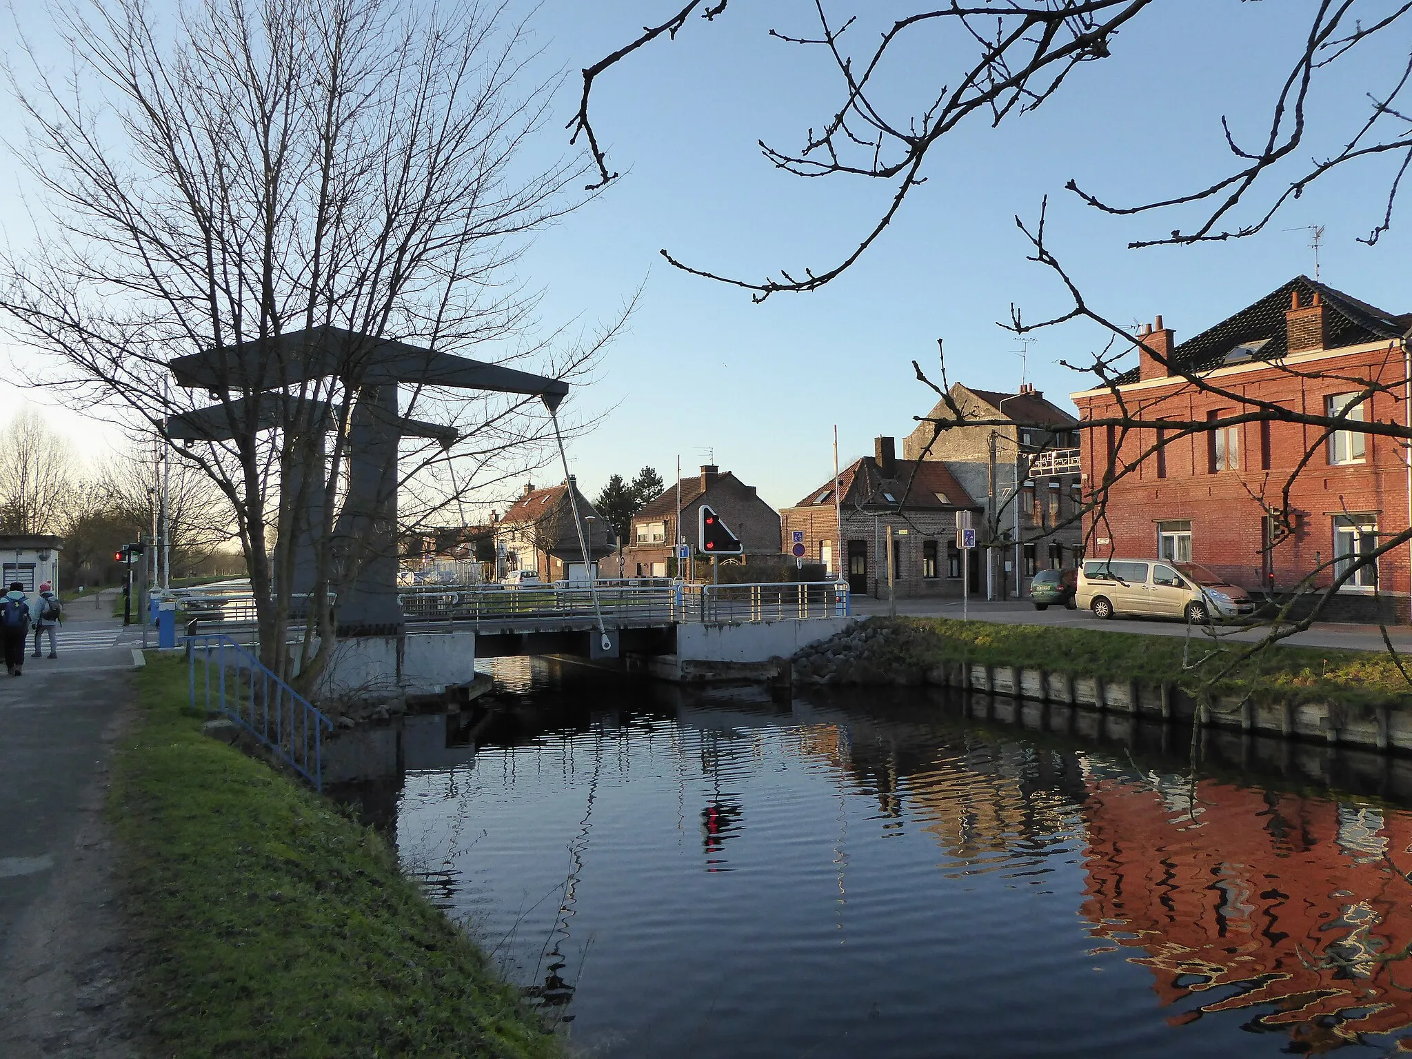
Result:
[[[315,791],[322,791],[323,733],[333,731],[333,722],[223,633],[196,633],[186,637],[192,709],[196,709],[198,654],[205,664],[202,668],[206,713],[219,712],[230,717],[313,784]],[[212,688],[212,671],[215,671],[215,688]]]

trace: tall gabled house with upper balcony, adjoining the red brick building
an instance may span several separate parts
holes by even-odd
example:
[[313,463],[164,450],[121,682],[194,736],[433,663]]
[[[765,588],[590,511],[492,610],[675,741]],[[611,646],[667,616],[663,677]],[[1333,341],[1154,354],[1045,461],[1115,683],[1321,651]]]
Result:
[[[945,460],[973,497],[984,498],[984,537],[994,542],[986,549],[986,596],[1024,596],[1038,570],[1076,566],[1083,556],[1079,419],[1028,384],[1008,394],[956,383],[947,395],[963,419],[1001,425],[936,433],[922,422],[902,442],[902,456]],[[956,414],[938,401],[928,418]]]

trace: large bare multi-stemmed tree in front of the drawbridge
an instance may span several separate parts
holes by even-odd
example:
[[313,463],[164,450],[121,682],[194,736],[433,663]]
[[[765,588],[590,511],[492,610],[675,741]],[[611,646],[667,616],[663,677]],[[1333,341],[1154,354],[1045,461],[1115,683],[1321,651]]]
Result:
[[[301,532],[316,552],[298,666],[312,686],[357,541],[395,541],[357,531],[336,548],[333,532],[384,342],[575,378],[614,330],[530,339],[537,297],[513,275],[527,237],[582,201],[582,160],[535,167],[524,151],[554,80],[531,76],[522,25],[474,1],[222,0],[160,25],[143,0],[97,0],[55,25],[71,82],[37,55],[11,73],[54,234],[6,261],[0,308],[56,354],[49,381],[75,400],[157,431],[213,408],[181,457],[226,497],[280,671]],[[329,328],[347,340],[318,361],[299,336]],[[202,354],[213,407],[169,385],[182,354]],[[385,469],[393,494],[450,479],[424,513],[555,438],[537,398],[431,376],[391,412],[435,426]],[[291,480],[295,467],[323,473]]]

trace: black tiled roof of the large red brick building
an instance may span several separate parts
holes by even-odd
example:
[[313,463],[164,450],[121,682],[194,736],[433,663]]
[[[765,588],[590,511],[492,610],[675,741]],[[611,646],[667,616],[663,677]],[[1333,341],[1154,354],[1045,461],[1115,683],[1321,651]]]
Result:
[[[1327,306],[1324,325],[1329,349],[1396,339],[1412,325],[1412,313],[1391,313],[1308,275],[1296,275],[1254,305],[1247,305],[1214,328],[1179,343],[1172,350],[1172,367],[1178,371],[1209,371],[1220,367],[1233,350],[1247,343],[1250,343],[1250,354],[1245,357],[1248,360],[1284,357],[1289,352],[1285,312],[1289,309],[1292,291],[1299,291],[1302,305],[1309,305],[1315,291],[1319,292]],[[1117,381],[1120,385],[1127,385],[1137,383],[1138,378],[1138,369],[1134,367],[1118,376]]]

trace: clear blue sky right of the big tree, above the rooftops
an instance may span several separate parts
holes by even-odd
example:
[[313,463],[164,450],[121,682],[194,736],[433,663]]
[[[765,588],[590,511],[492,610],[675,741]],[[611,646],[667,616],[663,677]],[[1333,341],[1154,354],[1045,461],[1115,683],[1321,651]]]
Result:
[[[539,4],[532,23],[544,62],[570,76],[538,151],[565,148],[561,127],[576,104],[578,69],[675,6]],[[834,6],[874,10],[867,0]],[[1309,234],[1286,229],[1313,223],[1327,229],[1326,282],[1391,311],[1412,309],[1406,229],[1374,249],[1354,241],[1381,217],[1388,162],[1316,186],[1262,236],[1197,249],[1128,251],[1130,239],[1185,226],[1187,216],[1103,217],[1063,191],[1075,178],[1132,202],[1221,175],[1228,155],[1220,116],[1230,114],[1238,133],[1262,131],[1271,92],[1315,6],[1169,0],[1124,32],[1113,59],[1084,65],[1038,113],[998,131],[977,124],[955,134],[894,227],[843,278],[765,305],[676,273],[657,251],[747,278],[827,267],[891,195],[877,181],[788,176],[755,148],[758,138],[796,147],[837,99],[819,55],[767,35],[771,25],[809,30],[813,4],[731,0],[714,24],[695,21],[675,42],[628,58],[600,80],[594,102],[599,136],[623,176],[544,234],[522,263],[522,278],[545,288],[546,326],[609,318],[645,284],[630,333],[575,398],[583,414],[606,415],[575,443],[582,484],[592,493],[610,473],[630,476],[642,465],[671,480],[678,455],[692,470],[713,450],[722,469],[758,486],[770,503],[792,504],[832,474],[834,424],[844,463],[871,450],[874,435],[912,429],[912,417],[932,401],[909,361],[935,366],[938,337],[953,380],[1012,390],[1019,346],[995,322],[1012,302],[1032,318],[1067,308],[1053,277],[1025,261],[1014,226],[1015,213],[1038,215],[1045,193],[1052,247],[1090,301],[1123,322],[1162,313],[1178,340],[1296,273],[1312,274]],[[1370,17],[1388,7],[1367,6]],[[1408,51],[1398,42],[1401,55],[1385,48],[1326,75],[1306,158],[1327,150],[1350,116],[1363,116],[1364,92],[1401,69]],[[935,65],[931,52],[914,48],[891,82],[899,99],[925,96]],[[0,131],[14,134],[13,114],[0,117]],[[8,193],[16,178],[7,174],[6,184]],[[0,199],[11,234],[17,217],[16,201]],[[1087,360],[1094,342],[1082,328],[1039,335],[1029,381],[1066,404],[1084,384],[1058,361]]]

